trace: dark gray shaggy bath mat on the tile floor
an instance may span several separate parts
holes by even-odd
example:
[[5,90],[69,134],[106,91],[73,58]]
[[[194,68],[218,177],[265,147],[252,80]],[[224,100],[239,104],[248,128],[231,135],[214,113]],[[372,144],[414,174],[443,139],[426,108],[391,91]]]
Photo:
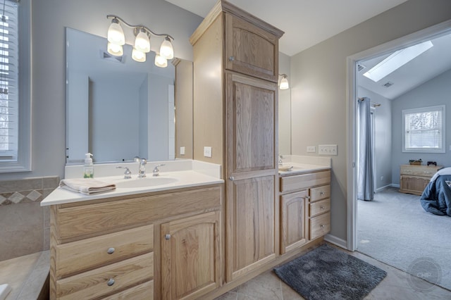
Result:
[[274,271],[307,300],[363,299],[387,275],[327,244]]

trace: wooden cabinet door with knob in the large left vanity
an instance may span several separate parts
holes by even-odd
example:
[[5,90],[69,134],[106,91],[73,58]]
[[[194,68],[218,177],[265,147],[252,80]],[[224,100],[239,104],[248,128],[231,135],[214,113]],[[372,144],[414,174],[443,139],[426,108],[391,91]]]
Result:
[[162,299],[196,299],[221,285],[221,213],[161,224]]

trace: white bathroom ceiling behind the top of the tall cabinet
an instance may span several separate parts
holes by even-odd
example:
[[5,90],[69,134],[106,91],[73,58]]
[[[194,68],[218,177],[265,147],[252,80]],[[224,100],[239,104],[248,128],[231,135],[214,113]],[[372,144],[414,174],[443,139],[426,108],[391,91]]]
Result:
[[[166,0],[205,18],[217,0]],[[279,51],[298,54],[407,0],[228,0],[283,30]]]

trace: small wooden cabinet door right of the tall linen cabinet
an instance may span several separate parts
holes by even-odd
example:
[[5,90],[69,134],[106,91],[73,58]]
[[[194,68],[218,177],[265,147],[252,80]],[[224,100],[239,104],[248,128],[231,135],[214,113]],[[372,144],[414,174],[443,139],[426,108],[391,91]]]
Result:
[[307,196],[307,190],[281,196],[281,254],[285,254],[307,242]]

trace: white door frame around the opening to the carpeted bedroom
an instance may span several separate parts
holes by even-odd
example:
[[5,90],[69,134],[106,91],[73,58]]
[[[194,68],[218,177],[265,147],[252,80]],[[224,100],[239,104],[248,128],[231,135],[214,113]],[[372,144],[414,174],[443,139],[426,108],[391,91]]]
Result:
[[357,63],[446,34],[451,34],[451,20],[347,57],[347,250],[357,249]]

